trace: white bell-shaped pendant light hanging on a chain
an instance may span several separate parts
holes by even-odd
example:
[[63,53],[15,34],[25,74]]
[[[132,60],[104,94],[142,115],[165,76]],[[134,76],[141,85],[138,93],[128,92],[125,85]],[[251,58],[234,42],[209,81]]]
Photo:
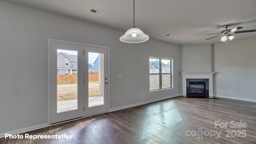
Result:
[[148,35],[144,34],[142,30],[135,27],[135,2],[133,0],[133,27],[128,29],[124,35],[120,37],[120,41],[124,43],[143,43],[148,41]]

